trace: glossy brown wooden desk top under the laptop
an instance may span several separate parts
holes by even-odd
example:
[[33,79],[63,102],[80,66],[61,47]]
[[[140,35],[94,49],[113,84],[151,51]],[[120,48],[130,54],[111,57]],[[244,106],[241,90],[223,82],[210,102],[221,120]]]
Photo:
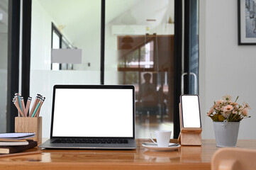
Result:
[[[142,142],[146,140],[137,140],[138,148],[133,150],[43,149],[42,154],[2,157],[0,169],[211,169],[211,157],[219,149],[215,140],[203,140],[201,147],[152,152],[141,147]],[[256,140],[238,140],[237,146],[256,149]]]

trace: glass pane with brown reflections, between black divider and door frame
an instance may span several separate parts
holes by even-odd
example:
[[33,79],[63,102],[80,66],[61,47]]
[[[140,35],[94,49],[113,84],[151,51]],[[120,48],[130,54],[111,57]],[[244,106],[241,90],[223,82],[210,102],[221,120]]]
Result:
[[135,86],[135,137],[173,130],[174,1],[108,0],[105,10],[104,83]]

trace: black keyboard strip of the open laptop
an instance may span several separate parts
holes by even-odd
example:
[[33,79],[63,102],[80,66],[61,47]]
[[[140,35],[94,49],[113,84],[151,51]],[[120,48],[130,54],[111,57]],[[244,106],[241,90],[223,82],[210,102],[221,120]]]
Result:
[[123,139],[57,139],[52,143],[85,143],[85,144],[127,144]]

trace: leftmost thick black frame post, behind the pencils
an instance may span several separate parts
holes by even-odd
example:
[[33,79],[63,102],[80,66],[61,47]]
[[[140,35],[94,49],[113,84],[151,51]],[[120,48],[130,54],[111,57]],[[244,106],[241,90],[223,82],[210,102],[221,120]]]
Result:
[[14,118],[18,115],[12,98],[18,92],[20,48],[20,1],[9,0],[8,9],[8,69],[6,132],[14,132]]

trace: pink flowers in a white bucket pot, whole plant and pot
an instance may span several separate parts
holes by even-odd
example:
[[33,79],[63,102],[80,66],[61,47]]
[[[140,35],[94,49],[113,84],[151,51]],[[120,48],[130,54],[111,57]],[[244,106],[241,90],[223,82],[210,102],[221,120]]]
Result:
[[213,120],[213,128],[216,137],[217,147],[235,147],[238,140],[240,121],[243,118],[250,118],[247,103],[240,105],[231,101],[231,96],[223,96],[221,100],[214,101],[213,106],[207,115]]

